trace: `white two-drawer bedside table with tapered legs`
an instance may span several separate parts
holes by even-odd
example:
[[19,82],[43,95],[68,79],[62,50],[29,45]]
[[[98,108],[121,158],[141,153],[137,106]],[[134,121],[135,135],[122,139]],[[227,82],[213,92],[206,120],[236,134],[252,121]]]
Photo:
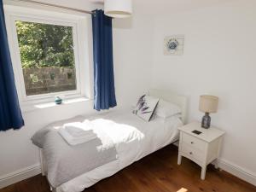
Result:
[[[209,129],[201,128],[200,122],[192,122],[178,128],[180,131],[177,164],[181,164],[182,156],[193,160],[201,166],[201,179],[204,180],[207,165],[218,158],[224,131],[211,126]],[[200,131],[197,135],[192,131]]]

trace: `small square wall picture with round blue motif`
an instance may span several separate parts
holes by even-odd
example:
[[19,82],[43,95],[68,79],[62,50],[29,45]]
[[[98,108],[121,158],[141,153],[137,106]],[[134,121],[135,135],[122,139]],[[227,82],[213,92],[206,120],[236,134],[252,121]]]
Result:
[[183,55],[184,35],[166,36],[164,39],[164,55]]

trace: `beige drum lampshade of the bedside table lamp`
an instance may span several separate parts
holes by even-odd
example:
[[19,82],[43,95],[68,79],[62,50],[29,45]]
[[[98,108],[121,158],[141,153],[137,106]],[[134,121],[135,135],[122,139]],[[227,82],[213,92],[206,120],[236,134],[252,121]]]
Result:
[[199,110],[204,113],[216,113],[218,109],[217,96],[200,96]]

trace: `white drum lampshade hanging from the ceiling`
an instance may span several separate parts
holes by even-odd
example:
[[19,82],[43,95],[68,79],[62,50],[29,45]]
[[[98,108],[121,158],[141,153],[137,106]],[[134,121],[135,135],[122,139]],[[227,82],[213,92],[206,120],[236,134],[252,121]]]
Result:
[[132,14],[131,0],[105,0],[104,14],[113,18],[130,17]]

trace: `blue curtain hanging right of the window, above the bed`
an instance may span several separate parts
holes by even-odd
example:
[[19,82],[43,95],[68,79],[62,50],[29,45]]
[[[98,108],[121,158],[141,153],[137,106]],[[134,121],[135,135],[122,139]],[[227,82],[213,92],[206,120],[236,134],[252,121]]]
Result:
[[112,18],[102,10],[92,14],[93,58],[94,58],[94,108],[116,106],[113,79]]

